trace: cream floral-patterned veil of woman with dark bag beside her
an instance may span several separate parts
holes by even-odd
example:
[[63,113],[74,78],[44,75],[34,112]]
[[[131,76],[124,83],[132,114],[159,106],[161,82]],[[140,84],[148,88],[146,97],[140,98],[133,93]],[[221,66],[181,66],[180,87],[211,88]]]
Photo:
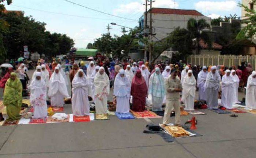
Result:
[[[104,70],[103,74],[100,74],[99,71]],[[104,67],[99,67],[99,71],[94,77],[94,86],[95,86],[95,94],[94,95],[101,95],[101,94],[109,94],[109,77],[105,73]]]

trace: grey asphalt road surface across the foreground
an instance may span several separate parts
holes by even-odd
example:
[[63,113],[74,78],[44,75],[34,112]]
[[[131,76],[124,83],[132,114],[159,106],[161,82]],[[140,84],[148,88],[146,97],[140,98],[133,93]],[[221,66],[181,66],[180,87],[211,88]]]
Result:
[[[195,131],[203,136],[177,138],[172,143],[143,134],[148,123],[160,123],[162,118],[148,122],[110,115],[106,121],[0,126],[0,158],[255,158],[256,115],[242,113],[233,118],[202,111],[207,115],[196,116]],[[64,106],[64,112],[72,113],[71,104]],[[189,118],[181,116],[182,123]]]

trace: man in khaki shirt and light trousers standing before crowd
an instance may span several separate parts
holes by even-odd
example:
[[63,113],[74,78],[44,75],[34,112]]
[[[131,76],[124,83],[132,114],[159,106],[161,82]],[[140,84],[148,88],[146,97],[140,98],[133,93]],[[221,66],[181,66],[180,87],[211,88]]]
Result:
[[165,127],[169,123],[172,108],[175,110],[175,126],[180,126],[180,92],[182,91],[181,81],[177,77],[177,71],[173,69],[171,75],[165,80],[166,88],[166,107],[163,116],[163,124],[160,127]]

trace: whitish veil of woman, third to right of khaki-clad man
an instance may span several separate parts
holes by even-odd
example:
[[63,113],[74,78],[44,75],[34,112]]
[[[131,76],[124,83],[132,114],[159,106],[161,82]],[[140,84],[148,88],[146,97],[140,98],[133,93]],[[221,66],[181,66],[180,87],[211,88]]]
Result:
[[[216,69],[217,69],[216,66],[211,67],[211,70],[216,70]],[[217,90],[217,89],[219,89],[219,82],[221,82],[221,76],[219,75],[219,73],[215,72],[213,74],[212,71],[210,71],[207,74],[204,87],[205,88],[214,88],[214,90]]]

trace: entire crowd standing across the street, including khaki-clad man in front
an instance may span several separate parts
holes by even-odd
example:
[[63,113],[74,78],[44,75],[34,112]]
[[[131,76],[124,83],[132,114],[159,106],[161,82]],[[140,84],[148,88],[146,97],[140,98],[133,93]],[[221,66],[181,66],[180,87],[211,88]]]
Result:
[[[69,60],[66,61],[66,64]],[[218,108],[218,99],[222,106],[232,109],[233,103],[238,103],[238,88],[246,86],[246,108],[256,109],[256,72],[249,63],[241,63],[237,68],[218,66],[191,66],[179,61],[175,64],[158,62],[150,65],[148,62],[118,59],[91,60],[88,65],[81,61],[78,64],[71,61],[72,68],[67,79],[67,67],[63,70],[61,63],[52,60],[50,66],[43,59],[27,86],[28,78],[25,64],[20,63],[15,72],[8,68],[0,81],[4,89],[3,103],[7,106],[9,120],[19,119],[22,100],[22,90],[30,90],[30,102],[34,107],[34,118],[47,116],[46,100],[49,97],[51,106],[61,107],[64,98],[69,97],[68,86],[71,85],[72,110],[74,115],[89,115],[92,98],[96,114],[108,113],[108,95],[113,88],[113,103],[116,112],[128,113],[146,110],[150,104],[152,111],[165,113],[162,127],[168,125],[170,113],[175,110],[175,125],[180,126],[180,106],[185,110],[194,110],[194,100],[206,100],[209,109]],[[68,69],[69,70],[69,69]],[[4,86],[3,86],[4,85]],[[198,89],[199,98],[196,98]],[[181,100],[180,100],[181,98]]]

